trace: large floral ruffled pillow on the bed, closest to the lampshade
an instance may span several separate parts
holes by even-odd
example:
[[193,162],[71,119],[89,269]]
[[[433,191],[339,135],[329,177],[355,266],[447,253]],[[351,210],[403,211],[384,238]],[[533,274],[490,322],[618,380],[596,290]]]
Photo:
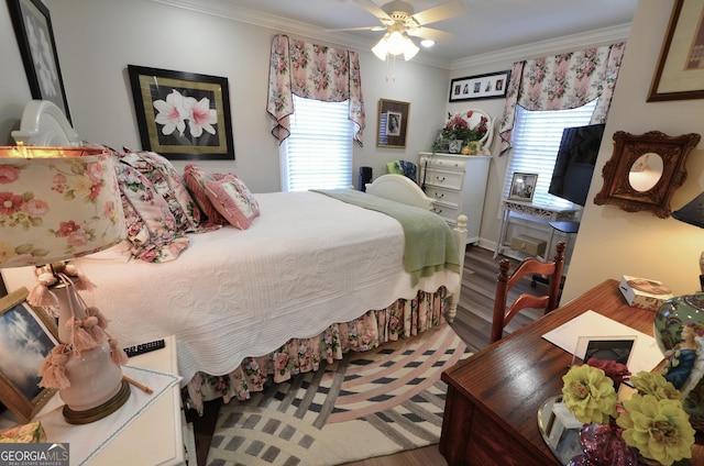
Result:
[[154,263],[175,259],[189,240],[176,230],[168,203],[140,170],[119,160],[114,165],[132,256]]

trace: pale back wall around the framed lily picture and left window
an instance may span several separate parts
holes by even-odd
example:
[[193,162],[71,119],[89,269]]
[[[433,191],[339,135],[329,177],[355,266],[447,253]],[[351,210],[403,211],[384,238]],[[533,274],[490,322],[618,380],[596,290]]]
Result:
[[[280,189],[278,144],[266,114],[270,48],[279,31],[148,0],[46,4],[70,113],[82,137],[113,147],[140,147],[128,64],[227,77],[237,159],[201,164],[237,171],[255,192]],[[354,148],[354,185],[360,166],[371,166],[377,177],[386,173],[387,162],[418,160],[418,152],[430,146],[441,124],[449,76],[448,70],[414,62],[387,66],[370,51],[359,52],[366,129],[364,147]],[[386,80],[391,74],[395,81]],[[405,149],[376,147],[381,98],[410,102]]]

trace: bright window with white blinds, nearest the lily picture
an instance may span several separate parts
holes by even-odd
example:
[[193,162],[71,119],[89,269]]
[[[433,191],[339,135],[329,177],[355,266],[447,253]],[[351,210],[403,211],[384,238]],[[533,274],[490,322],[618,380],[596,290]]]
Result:
[[294,96],[290,136],[280,145],[282,190],[349,188],[354,123],[350,103]]

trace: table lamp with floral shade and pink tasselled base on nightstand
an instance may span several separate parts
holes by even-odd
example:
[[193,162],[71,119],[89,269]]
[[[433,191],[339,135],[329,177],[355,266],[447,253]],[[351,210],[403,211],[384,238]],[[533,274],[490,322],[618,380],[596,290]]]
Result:
[[130,397],[124,352],[76,291],[90,282],[66,260],[118,244],[125,226],[112,156],[82,147],[0,147],[0,268],[35,266],[28,302],[58,317],[59,344],[40,368],[64,419],[86,424]]

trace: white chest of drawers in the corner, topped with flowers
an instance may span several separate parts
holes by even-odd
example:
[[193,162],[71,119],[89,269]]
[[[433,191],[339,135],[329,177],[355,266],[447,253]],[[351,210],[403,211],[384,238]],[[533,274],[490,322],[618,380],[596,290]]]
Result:
[[450,225],[457,225],[458,215],[466,215],[468,244],[480,240],[491,159],[490,155],[420,153],[418,181],[435,199],[433,211]]

